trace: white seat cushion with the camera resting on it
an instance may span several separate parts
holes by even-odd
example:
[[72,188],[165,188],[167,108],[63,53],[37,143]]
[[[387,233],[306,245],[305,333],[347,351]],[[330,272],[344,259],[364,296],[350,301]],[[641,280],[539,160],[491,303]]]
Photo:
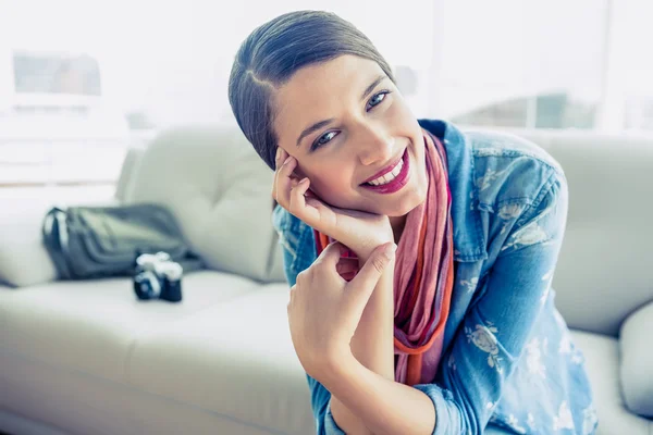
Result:
[[[60,281],[0,291],[0,350],[124,382],[135,340],[259,287],[213,271],[183,278],[184,299],[139,301],[131,278]],[[8,370],[3,368],[3,371]]]

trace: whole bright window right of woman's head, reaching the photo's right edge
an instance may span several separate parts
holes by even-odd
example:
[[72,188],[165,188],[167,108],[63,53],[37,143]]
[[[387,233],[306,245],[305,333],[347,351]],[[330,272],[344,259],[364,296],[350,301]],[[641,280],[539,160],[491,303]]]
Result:
[[653,40],[649,2],[445,0],[441,12],[439,114],[489,126],[653,129],[653,62],[641,51]]

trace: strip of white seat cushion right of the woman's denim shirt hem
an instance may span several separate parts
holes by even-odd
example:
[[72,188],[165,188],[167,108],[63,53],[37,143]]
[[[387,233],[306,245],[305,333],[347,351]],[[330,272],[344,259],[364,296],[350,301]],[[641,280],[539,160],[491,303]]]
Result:
[[586,357],[586,368],[599,414],[597,435],[650,435],[653,422],[631,413],[624,402],[619,378],[619,345],[612,337],[572,331]]

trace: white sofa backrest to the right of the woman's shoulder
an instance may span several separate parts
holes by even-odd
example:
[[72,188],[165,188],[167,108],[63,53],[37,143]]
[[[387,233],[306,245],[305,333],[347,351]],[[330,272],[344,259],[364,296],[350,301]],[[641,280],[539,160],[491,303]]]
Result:
[[569,184],[556,306],[570,326],[617,336],[626,316],[653,300],[653,138],[513,133],[547,150]]

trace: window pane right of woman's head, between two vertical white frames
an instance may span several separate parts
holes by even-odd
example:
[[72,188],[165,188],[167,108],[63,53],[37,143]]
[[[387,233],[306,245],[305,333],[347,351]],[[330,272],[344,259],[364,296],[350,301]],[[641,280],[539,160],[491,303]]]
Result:
[[606,4],[444,1],[434,110],[465,124],[595,128]]

